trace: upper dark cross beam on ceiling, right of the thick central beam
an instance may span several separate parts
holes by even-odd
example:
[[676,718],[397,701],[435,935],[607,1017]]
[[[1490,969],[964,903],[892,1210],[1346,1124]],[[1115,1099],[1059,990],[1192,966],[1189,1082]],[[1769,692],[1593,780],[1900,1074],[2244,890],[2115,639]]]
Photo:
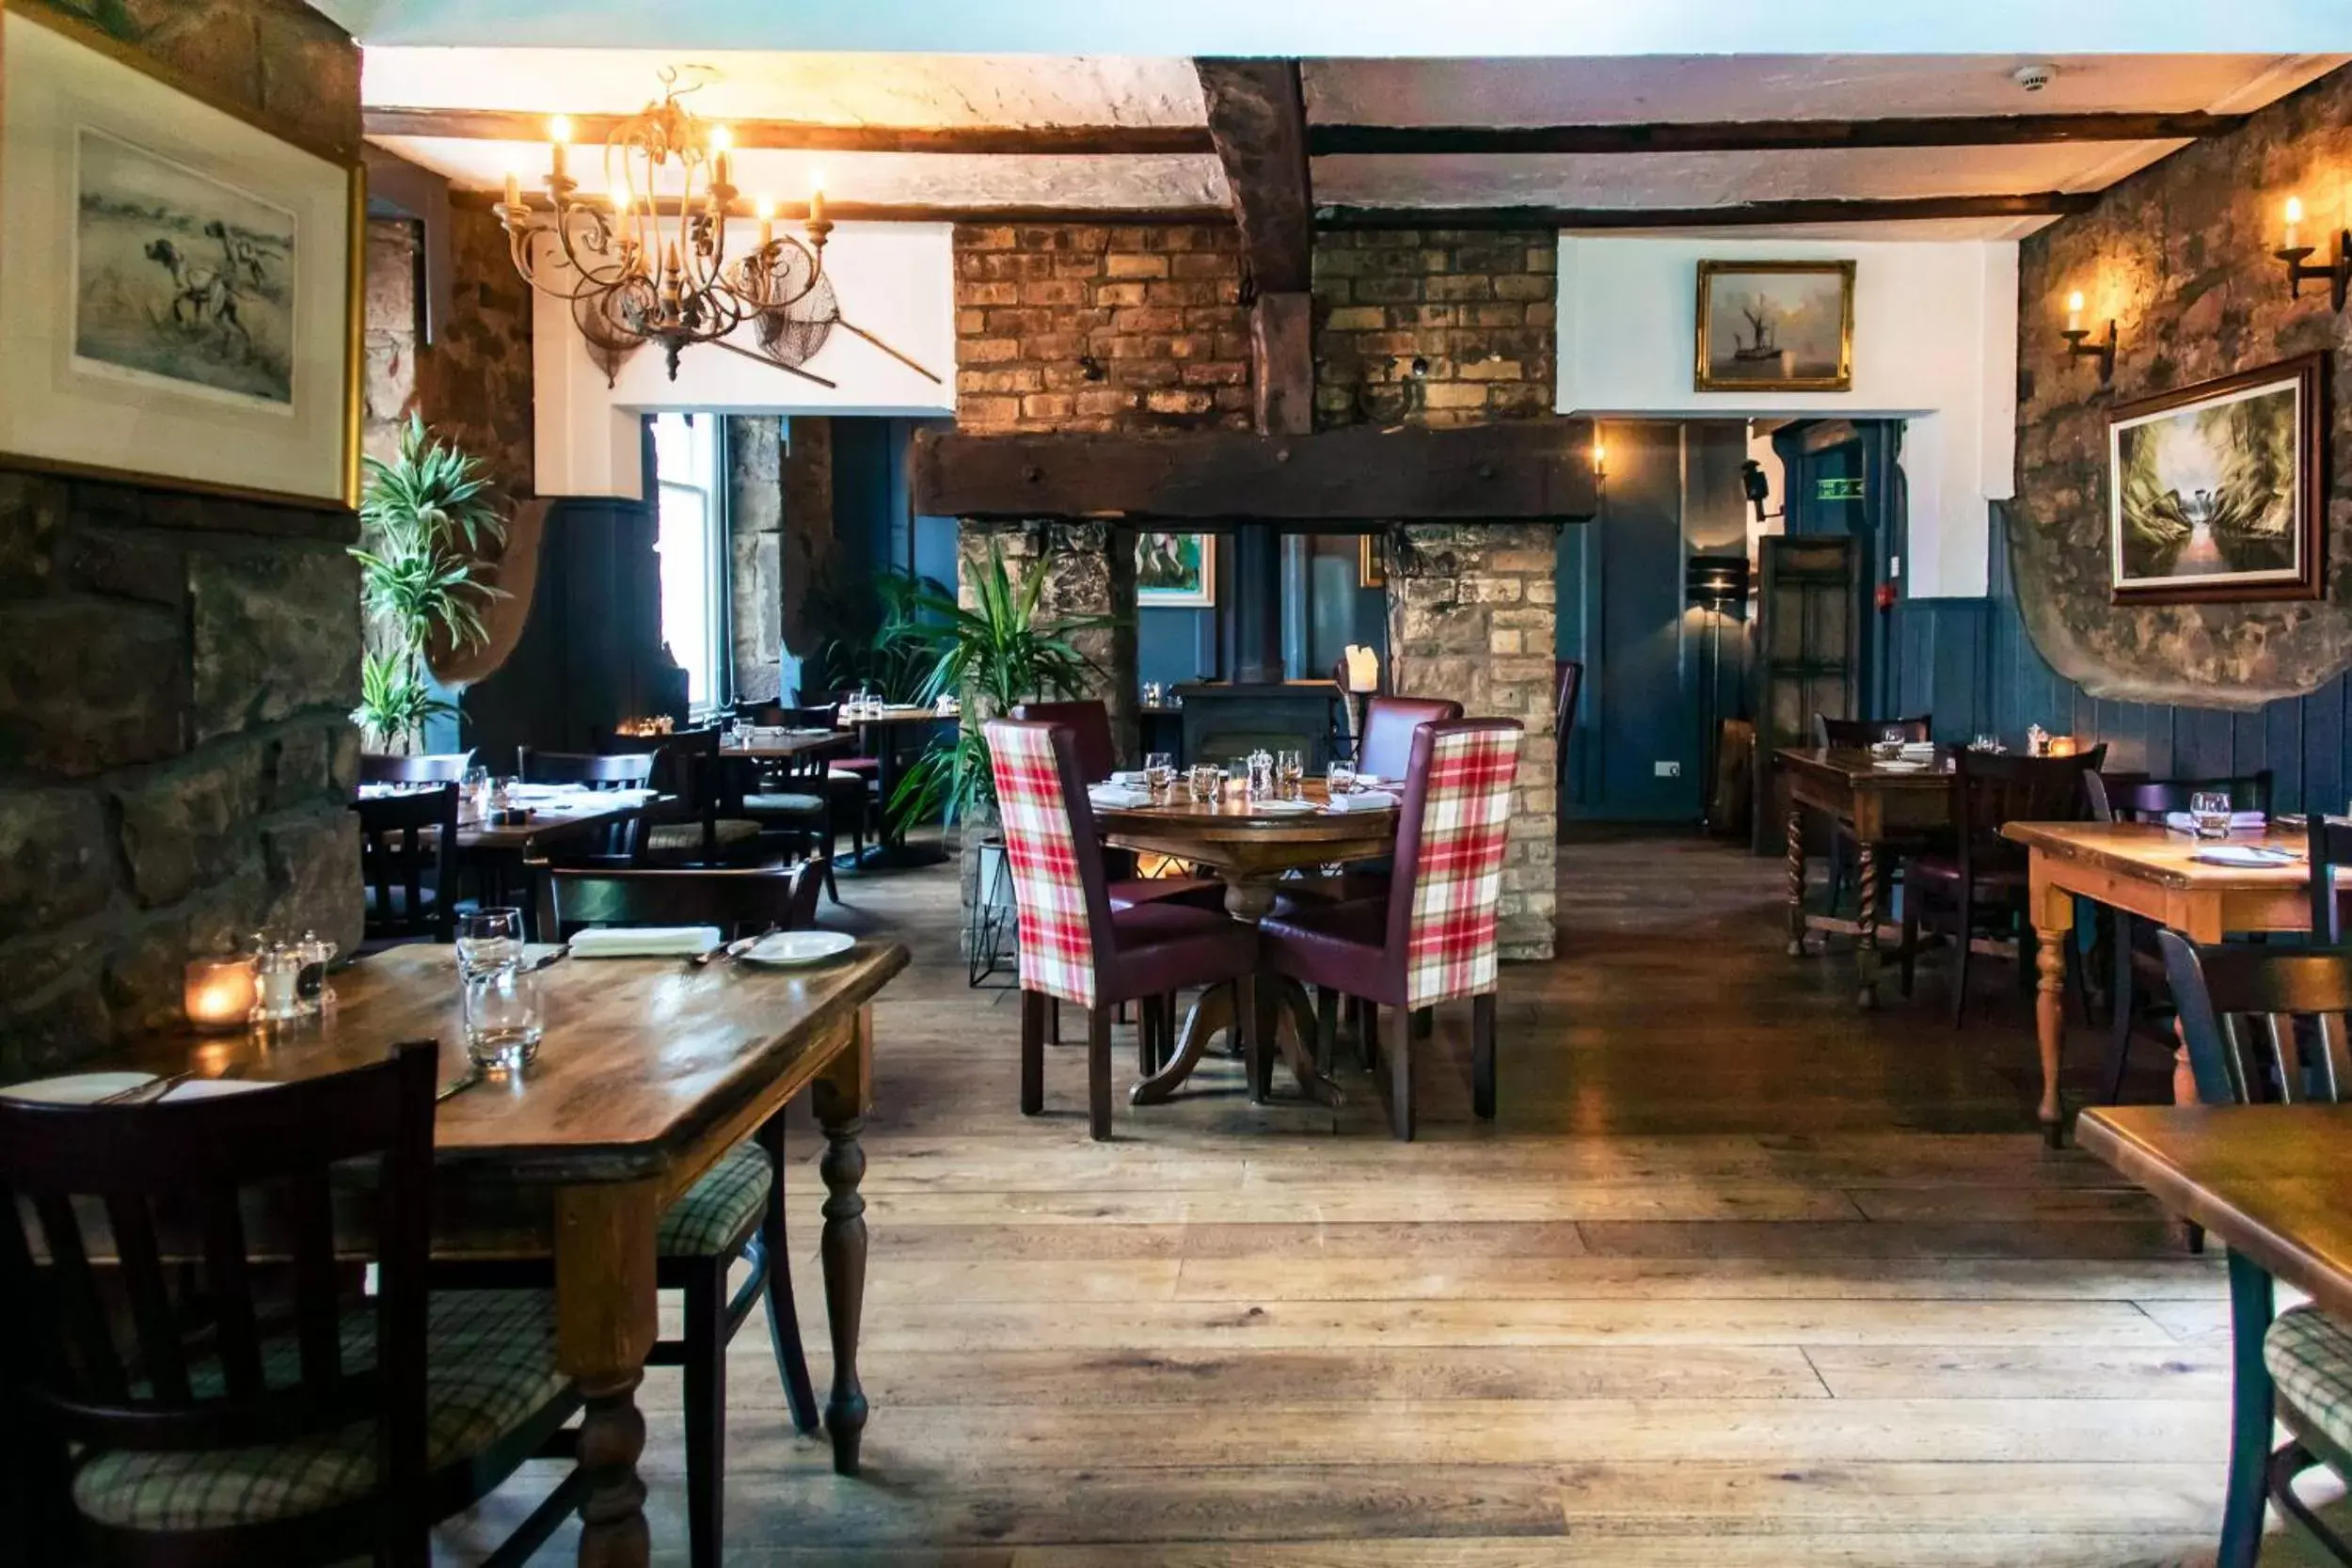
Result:
[[2218,136],[2246,115],[1938,115],[1896,120],[1661,120],[1651,125],[1312,125],[1317,158],[1381,153],[1790,153],[1997,148]]

